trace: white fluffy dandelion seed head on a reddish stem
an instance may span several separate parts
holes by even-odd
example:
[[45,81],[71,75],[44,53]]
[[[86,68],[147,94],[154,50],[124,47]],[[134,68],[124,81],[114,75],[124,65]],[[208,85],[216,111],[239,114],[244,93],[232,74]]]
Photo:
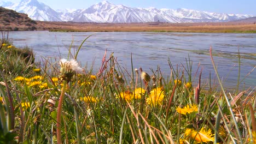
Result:
[[73,75],[75,73],[82,73],[82,68],[79,67],[77,61],[72,59],[71,61],[67,61],[67,59],[61,59],[61,79],[66,80],[67,82],[71,81]]

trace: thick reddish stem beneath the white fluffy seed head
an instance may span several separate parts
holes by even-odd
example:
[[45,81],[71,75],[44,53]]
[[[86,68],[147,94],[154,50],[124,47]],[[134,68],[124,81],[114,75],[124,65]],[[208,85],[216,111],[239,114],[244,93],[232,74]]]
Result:
[[63,87],[61,89],[60,101],[57,109],[57,143],[62,143],[61,140],[61,112],[62,112],[62,103],[64,100],[64,95],[67,87],[67,81],[63,81]]

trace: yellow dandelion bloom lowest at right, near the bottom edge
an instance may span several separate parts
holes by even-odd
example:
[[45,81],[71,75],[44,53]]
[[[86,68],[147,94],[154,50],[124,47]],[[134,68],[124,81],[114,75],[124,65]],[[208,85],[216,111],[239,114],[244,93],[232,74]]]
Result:
[[205,130],[202,128],[199,132],[193,129],[186,129],[184,136],[189,136],[196,142],[210,142],[214,141],[214,134],[212,134],[211,129]]

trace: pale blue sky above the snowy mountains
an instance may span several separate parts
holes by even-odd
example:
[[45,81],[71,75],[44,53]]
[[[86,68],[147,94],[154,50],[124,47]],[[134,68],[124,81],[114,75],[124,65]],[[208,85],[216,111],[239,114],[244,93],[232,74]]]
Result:
[[[3,0],[0,0],[3,1]],[[8,1],[8,0],[4,0]],[[18,2],[13,0],[12,2]],[[49,5],[53,9],[88,8],[93,4],[101,2],[101,0],[38,0]],[[132,8],[187,8],[194,10],[203,10],[216,13],[228,14],[251,14],[256,16],[256,0],[108,0],[113,4],[124,4]]]

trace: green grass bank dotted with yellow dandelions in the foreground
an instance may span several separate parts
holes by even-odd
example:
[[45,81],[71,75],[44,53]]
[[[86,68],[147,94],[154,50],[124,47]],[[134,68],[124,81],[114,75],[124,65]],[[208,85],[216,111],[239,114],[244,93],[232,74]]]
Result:
[[21,64],[0,69],[0,143],[56,143],[61,92],[59,124],[65,143],[256,141],[254,89],[212,91],[211,81],[202,86],[200,74],[199,82],[193,81],[190,61],[180,69],[170,63],[172,73],[164,78],[160,68],[150,75],[142,69],[128,71],[113,55],[105,55],[97,74],[85,67],[80,74],[64,75],[60,71],[69,61],[45,59],[41,67],[25,67],[21,56],[2,58],[10,49],[1,51],[1,63],[13,59]]

